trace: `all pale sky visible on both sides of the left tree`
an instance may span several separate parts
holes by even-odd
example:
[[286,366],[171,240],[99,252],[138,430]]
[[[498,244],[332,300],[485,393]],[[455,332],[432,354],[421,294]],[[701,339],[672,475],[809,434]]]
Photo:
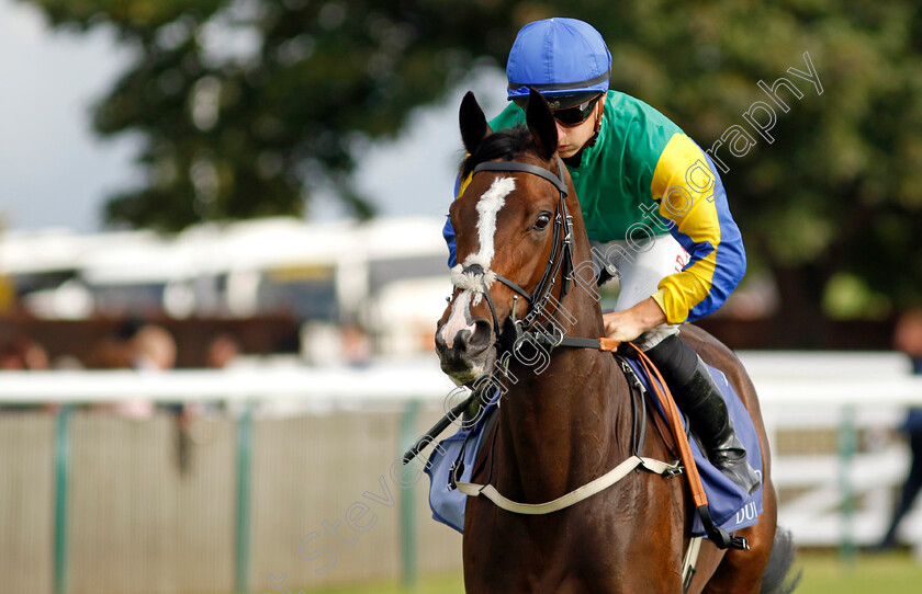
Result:
[[[102,228],[105,197],[144,180],[130,136],[100,139],[91,108],[130,56],[108,30],[52,32],[32,5],[0,0],[0,229]],[[418,110],[400,138],[372,145],[356,183],[382,216],[443,216],[460,159],[458,106],[472,88],[484,111],[505,98],[499,70],[461,83],[440,105]],[[342,218],[330,196],[316,220]]]

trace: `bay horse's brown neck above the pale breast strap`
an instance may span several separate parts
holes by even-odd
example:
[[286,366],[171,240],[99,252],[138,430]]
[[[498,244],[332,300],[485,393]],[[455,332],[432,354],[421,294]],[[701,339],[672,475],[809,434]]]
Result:
[[[567,335],[601,335],[597,305],[569,311],[577,321]],[[497,444],[507,458],[502,464],[505,489],[531,502],[554,499],[599,476],[612,458],[629,454],[630,431],[615,430],[630,411],[625,409],[628,399],[614,393],[625,382],[618,381],[620,372],[610,354],[559,347],[546,368],[539,363],[510,370],[516,382],[501,404]]]

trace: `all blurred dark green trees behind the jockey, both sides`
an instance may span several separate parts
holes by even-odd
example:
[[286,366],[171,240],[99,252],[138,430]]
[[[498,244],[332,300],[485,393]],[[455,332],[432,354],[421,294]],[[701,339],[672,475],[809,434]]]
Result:
[[[148,183],[109,203],[111,222],[299,214],[321,187],[368,216],[349,187],[357,139],[395,134],[479,58],[505,64],[524,23],[556,13],[601,31],[615,89],[705,149],[724,138],[715,155],[751,270],[772,272],[790,327],[821,332],[824,301],[862,315],[855,299],[886,312],[922,298],[914,0],[27,1],[56,25],[115,27],[134,56],[95,128],[143,136]],[[805,53],[817,84],[790,73],[809,75]],[[782,77],[800,93],[775,89],[786,112],[758,85]]]

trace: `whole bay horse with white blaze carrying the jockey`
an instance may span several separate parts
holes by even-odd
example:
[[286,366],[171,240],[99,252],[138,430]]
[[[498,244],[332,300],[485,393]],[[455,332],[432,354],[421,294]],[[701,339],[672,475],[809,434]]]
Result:
[[[591,247],[572,180],[556,153],[553,115],[537,92],[526,119],[527,129],[494,134],[473,94],[462,101],[461,136],[469,153],[462,179],[486,164],[450,208],[459,265],[452,270],[456,288],[438,322],[436,349],[442,369],[458,384],[491,374],[515,378],[504,384],[498,418],[472,481],[488,482],[510,500],[540,504],[631,457],[638,423],[644,424],[639,433],[644,456],[674,460],[676,455],[662,421],[639,416],[632,408],[628,381],[611,353],[554,349],[540,369],[531,361],[540,349],[508,356],[517,329],[535,327],[528,316],[539,301],[542,316],[556,310],[570,320],[567,336],[605,335],[597,296],[573,286],[578,263],[592,261]],[[764,513],[756,525],[737,533],[751,548],[720,550],[705,540],[688,592],[783,592],[792,546],[785,532],[776,535],[777,496],[755,389],[739,359],[713,336],[693,325],[683,327],[681,336],[740,395],[758,433],[764,469]],[[681,478],[640,470],[547,515],[513,513],[484,496],[469,496],[465,590],[681,593],[692,513]]]

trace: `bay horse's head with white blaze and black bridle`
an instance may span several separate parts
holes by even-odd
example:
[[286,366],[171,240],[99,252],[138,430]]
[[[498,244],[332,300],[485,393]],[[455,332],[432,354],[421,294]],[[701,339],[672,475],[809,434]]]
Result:
[[549,295],[560,298],[569,282],[572,231],[565,196],[572,182],[556,153],[551,110],[533,91],[526,122],[527,129],[493,134],[472,93],[461,103],[469,153],[461,179],[473,175],[449,212],[456,288],[436,330],[442,370],[459,384],[490,372],[501,335],[515,336],[515,320]]

